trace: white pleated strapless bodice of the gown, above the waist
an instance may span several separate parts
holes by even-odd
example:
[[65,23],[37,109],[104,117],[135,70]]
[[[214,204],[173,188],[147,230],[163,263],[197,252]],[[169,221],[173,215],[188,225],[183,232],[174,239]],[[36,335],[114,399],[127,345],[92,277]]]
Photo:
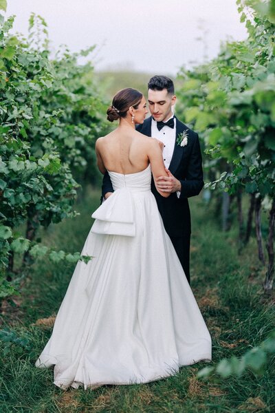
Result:
[[136,173],[123,173],[108,171],[113,189],[128,188],[132,191],[151,191],[151,166]]

